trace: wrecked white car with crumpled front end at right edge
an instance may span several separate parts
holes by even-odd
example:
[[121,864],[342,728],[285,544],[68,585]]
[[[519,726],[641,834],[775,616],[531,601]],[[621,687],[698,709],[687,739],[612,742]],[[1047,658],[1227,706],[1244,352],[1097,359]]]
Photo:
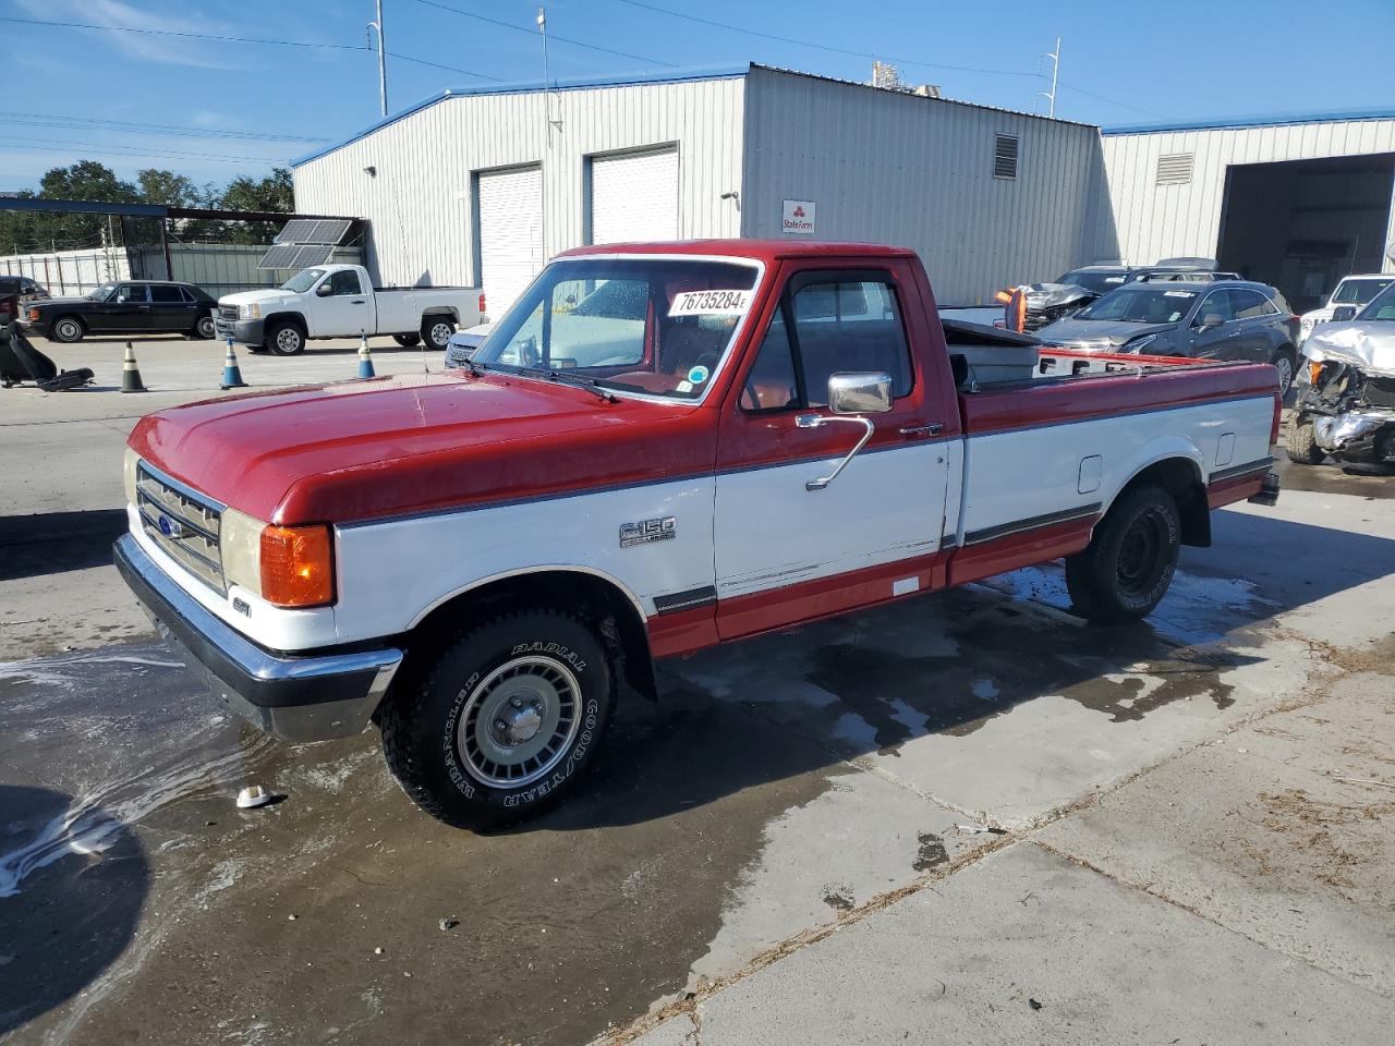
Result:
[[1322,324],[1303,357],[1289,457],[1395,464],[1395,285],[1355,319]]

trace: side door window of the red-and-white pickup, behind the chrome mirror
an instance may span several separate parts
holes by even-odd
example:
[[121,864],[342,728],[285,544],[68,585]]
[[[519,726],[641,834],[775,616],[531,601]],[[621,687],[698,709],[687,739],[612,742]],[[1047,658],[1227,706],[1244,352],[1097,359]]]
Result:
[[829,378],[843,371],[890,374],[897,399],[911,391],[911,351],[889,278],[801,282],[787,291],[742,389],[742,406],[826,407]]

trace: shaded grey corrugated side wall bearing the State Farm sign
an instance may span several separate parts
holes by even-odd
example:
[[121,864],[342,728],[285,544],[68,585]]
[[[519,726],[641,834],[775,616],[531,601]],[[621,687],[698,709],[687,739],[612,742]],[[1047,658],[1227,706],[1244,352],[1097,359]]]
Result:
[[[1016,180],[993,177],[1018,137]],[[819,240],[914,247],[943,304],[1059,276],[1094,245],[1096,128],[753,68],[746,236],[780,236],[783,201],[817,205]]]

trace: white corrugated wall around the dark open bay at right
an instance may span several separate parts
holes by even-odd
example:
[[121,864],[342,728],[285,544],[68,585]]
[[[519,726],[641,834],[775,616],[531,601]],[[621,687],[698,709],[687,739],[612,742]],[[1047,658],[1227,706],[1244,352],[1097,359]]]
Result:
[[[1381,152],[1395,152],[1395,120],[1106,134],[1105,174],[1116,229],[1098,230],[1095,254],[1145,265],[1166,257],[1215,258],[1230,165]],[[1159,185],[1158,158],[1173,153],[1194,153],[1191,180]],[[1395,223],[1387,238],[1395,238]]]

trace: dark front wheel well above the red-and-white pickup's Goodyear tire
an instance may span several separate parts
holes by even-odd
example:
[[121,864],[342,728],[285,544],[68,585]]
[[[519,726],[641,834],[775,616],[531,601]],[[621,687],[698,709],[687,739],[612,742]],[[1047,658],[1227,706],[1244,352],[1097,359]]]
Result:
[[615,577],[586,566],[534,566],[472,582],[444,594],[409,626],[407,651],[421,640],[453,632],[484,614],[522,607],[579,611],[591,619],[626,682],[649,699],[657,697],[644,607]]

